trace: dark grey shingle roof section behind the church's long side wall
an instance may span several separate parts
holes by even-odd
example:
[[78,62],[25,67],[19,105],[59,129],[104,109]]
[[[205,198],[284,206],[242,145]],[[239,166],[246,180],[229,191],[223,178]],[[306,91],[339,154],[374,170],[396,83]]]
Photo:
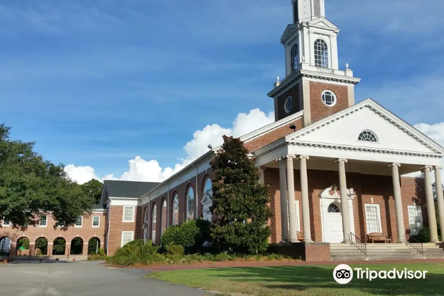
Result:
[[141,197],[157,184],[159,183],[114,180],[105,180],[103,183],[109,197]]

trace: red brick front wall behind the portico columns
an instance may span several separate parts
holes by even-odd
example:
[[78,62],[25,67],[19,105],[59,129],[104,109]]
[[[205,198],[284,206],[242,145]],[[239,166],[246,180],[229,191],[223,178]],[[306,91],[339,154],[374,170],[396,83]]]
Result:
[[[338,173],[335,171],[308,170],[308,194],[310,208],[311,237],[316,242],[322,241],[321,205],[319,193],[325,188],[339,184]],[[278,243],[281,240],[281,206],[279,170],[267,168],[264,172],[265,184],[269,185],[271,197],[271,219],[272,235],[270,243]],[[352,181],[356,192],[353,200],[353,214],[355,221],[355,233],[358,237],[365,239],[366,216],[365,204],[379,204],[381,211],[382,231],[397,241],[395,201],[393,199],[393,185],[391,176],[361,175],[359,173],[347,173],[347,184]],[[422,205],[424,226],[428,224],[424,180],[420,178],[401,178],[401,194],[403,199],[404,230],[408,229],[407,205]],[[300,175],[295,170],[295,198],[299,200],[300,229],[303,229],[302,203],[300,193]],[[373,198],[373,202],[371,202]]]

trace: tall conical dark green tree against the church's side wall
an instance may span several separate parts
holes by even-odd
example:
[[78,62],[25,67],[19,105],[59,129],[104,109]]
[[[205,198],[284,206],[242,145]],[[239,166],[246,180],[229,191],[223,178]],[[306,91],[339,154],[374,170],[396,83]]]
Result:
[[258,254],[268,247],[272,217],[268,187],[260,185],[256,159],[237,138],[223,136],[222,149],[211,161],[212,213],[219,219],[211,225],[215,246],[222,251]]

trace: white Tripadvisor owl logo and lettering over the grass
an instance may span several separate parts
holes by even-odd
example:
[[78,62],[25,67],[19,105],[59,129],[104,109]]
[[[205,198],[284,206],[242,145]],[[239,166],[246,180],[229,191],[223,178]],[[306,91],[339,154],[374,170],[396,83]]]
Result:
[[[354,270],[354,272],[353,272]],[[353,279],[353,275],[358,280],[374,279],[425,279],[427,270],[407,270],[407,268],[397,270],[371,270],[369,268],[352,269],[347,264],[339,264],[333,270],[333,279],[339,284],[348,284]]]

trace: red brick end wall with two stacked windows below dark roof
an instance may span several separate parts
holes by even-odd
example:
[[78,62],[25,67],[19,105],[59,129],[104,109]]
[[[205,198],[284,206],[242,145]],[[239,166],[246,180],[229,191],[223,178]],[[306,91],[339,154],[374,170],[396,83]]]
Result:
[[134,222],[123,222],[123,206],[111,206],[108,255],[114,254],[122,244],[122,231],[134,231],[134,239],[142,238],[142,208],[135,207]]

